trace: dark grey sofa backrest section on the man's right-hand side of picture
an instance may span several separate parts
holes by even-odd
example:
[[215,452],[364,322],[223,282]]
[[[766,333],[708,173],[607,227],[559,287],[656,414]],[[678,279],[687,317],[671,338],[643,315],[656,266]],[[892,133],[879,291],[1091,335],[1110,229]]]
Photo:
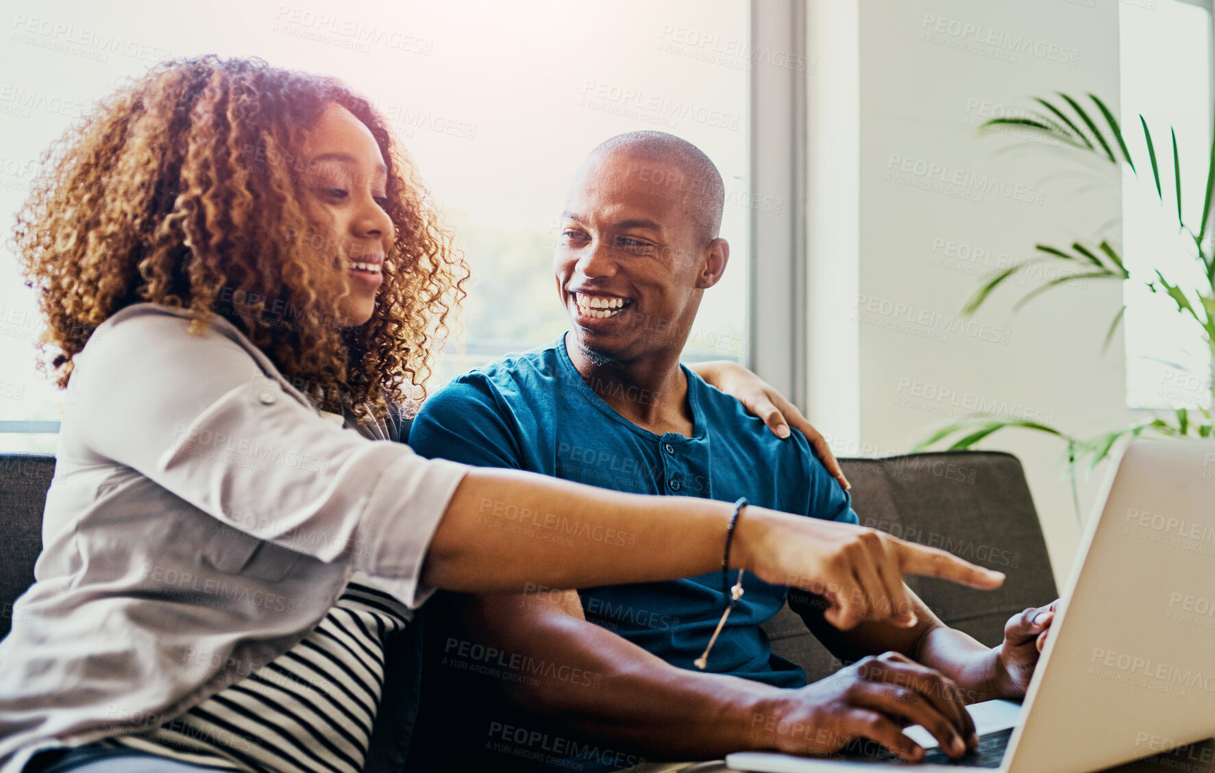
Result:
[[[1005,572],[996,591],[934,577],[908,586],[949,626],[996,645],[1008,617],[1055,600],[1055,576],[1021,462],[1010,453],[956,451],[882,459],[841,459],[863,526],[949,551]],[[841,667],[786,605],[764,630],[773,651],[806,668],[810,682]]]

